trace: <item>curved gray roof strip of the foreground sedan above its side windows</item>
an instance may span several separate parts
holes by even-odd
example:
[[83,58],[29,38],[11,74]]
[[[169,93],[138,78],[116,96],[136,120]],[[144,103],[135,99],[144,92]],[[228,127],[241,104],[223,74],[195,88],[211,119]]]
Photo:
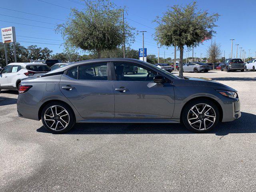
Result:
[[[78,61],[74,63],[70,63],[66,66],[57,68],[53,71],[48,72],[47,74],[56,73],[56,72],[62,72],[68,68],[71,68],[73,66],[82,65],[82,64],[93,64],[93,63],[99,63],[99,62],[134,62],[137,64],[149,64],[147,62],[138,60],[138,59],[128,59],[128,58],[104,58],[104,59],[91,59],[91,60],[84,60],[84,61]],[[59,63],[58,63],[59,64]]]

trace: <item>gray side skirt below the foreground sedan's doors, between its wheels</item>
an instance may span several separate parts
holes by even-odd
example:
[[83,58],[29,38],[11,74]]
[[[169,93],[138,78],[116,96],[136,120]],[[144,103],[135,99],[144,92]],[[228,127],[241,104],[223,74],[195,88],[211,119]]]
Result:
[[77,123],[180,123],[179,119],[123,119],[123,118],[108,118],[108,119],[84,119]]

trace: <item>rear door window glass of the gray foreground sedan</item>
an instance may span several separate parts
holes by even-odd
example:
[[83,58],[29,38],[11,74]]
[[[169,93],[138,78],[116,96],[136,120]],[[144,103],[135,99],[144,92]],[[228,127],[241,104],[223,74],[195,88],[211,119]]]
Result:
[[79,80],[108,80],[107,63],[83,65],[78,67]]

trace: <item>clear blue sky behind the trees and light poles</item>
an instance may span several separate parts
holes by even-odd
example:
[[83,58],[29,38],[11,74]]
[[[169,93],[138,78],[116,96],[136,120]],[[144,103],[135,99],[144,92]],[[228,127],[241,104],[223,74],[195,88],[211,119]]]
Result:
[[[156,16],[162,16],[168,6],[185,5],[191,3],[192,0],[113,0],[113,2],[117,6],[127,7],[128,14],[125,16],[125,20],[138,31],[147,31],[144,34],[145,48],[147,48],[148,54],[158,56],[157,42],[153,37],[156,24],[152,21]],[[250,56],[256,57],[256,0],[198,0],[197,3],[198,8],[208,10],[210,14],[220,14],[220,18],[216,22],[218,27],[214,28],[217,33],[212,41],[220,44],[222,56],[225,51],[225,56],[228,58],[231,52],[230,39],[235,39],[233,42],[235,57],[236,44],[239,44],[238,58],[240,57],[240,47],[245,50],[247,57],[249,49]],[[62,36],[56,34],[54,28],[66,20],[70,8],[74,7],[82,10],[84,6],[80,0],[5,0],[0,4],[0,28],[15,26],[17,42],[20,42],[22,46],[48,47],[53,50],[54,54],[63,52]],[[202,54],[202,57],[206,57],[206,50],[210,44],[211,40],[207,40],[194,48],[194,54],[196,53],[194,56],[200,57]],[[142,48],[142,34],[135,37],[131,48],[136,50]],[[184,50],[184,58],[186,58],[186,47]],[[164,56],[165,58],[174,58],[174,47],[161,47],[160,57],[164,58]],[[188,52],[188,56],[192,56],[192,51]],[[178,51],[176,57],[179,58]]]

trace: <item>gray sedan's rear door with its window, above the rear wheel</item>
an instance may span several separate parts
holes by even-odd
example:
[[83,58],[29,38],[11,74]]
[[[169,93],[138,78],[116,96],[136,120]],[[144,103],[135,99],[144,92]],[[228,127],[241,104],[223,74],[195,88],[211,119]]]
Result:
[[83,118],[114,118],[114,91],[107,63],[70,68],[59,86]]

